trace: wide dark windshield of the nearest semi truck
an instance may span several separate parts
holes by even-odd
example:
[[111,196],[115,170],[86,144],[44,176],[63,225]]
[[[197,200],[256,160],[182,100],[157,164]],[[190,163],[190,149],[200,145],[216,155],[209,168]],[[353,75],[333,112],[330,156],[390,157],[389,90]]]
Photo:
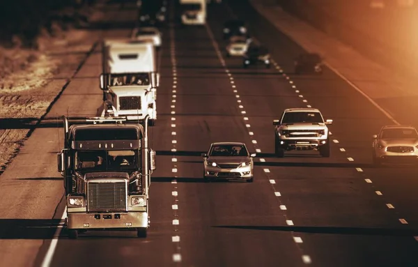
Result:
[[75,151],[77,171],[118,171],[138,169],[138,151]]

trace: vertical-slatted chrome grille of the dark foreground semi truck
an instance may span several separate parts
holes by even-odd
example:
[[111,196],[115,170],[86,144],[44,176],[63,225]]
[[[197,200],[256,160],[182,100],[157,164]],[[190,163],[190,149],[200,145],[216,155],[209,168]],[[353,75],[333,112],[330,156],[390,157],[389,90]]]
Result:
[[126,211],[127,183],[125,181],[87,184],[88,211]]

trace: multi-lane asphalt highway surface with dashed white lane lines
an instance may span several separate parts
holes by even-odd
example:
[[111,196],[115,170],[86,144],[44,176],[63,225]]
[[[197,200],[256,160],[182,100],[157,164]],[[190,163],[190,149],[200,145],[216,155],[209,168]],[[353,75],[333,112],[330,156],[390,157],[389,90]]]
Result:
[[[14,247],[0,253],[8,252],[9,262],[33,257],[35,266],[418,266],[418,171],[371,165],[371,136],[393,122],[328,69],[322,76],[293,75],[301,48],[251,10],[247,3],[222,3],[210,6],[207,26],[162,29],[148,237],[97,231],[70,240],[61,231],[52,242],[56,227],[41,230],[40,224],[58,224],[65,208],[56,172],[62,130],[58,136],[56,128],[38,128],[0,178],[10,181],[8,194],[0,190],[8,226],[0,231],[1,246]],[[127,8],[118,16],[132,20],[132,12]],[[172,5],[170,12],[173,17],[178,8]],[[256,40],[270,48],[272,68],[244,69],[242,59],[226,58],[222,24],[234,14],[246,18]],[[127,27],[103,36],[129,33]],[[95,47],[49,116],[68,110],[95,115],[102,100],[100,70]],[[272,120],[283,109],[307,105],[334,120],[331,157],[297,151],[275,158]],[[203,183],[199,155],[212,142],[245,142],[257,153],[254,183]],[[17,186],[23,189],[13,194]],[[32,198],[34,204],[15,204]],[[10,219],[20,219],[21,227]]]

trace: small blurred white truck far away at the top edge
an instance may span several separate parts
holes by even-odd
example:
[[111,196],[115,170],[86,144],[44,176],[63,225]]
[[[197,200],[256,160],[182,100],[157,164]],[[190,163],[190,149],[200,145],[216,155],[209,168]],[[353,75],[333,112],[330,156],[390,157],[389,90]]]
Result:
[[180,0],[181,23],[204,25],[206,23],[206,0]]

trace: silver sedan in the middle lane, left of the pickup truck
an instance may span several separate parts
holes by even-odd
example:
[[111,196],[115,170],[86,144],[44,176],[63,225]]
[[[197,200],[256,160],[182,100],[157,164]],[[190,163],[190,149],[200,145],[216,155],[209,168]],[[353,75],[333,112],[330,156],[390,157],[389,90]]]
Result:
[[210,145],[208,153],[203,153],[205,181],[215,178],[245,180],[249,183],[254,178],[256,154],[250,154],[244,143],[222,142]]

